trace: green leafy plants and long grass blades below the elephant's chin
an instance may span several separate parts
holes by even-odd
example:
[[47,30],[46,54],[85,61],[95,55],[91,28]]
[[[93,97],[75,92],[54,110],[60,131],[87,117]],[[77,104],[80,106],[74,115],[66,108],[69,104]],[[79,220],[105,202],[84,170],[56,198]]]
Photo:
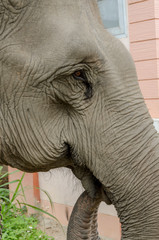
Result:
[[[0,184],[4,177],[9,174],[14,174],[17,171],[12,173],[2,174],[2,167],[0,167]],[[3,216],[3,229],[2,229],[2,240],[34,240],[34,239],[43,239],[43,240],[54,240],[53,237],[48,237],[41,230],[37,229],[38,220],[30,216],[26,215],[27,207],[32,207],[38,211],[41,211],[53,218],[55,218],[52,214],[45,212],[41,208],[37,208],[35,206],[29,205],[27,203],[20,203],[17,199],[19,195],[23,196],[25,199],[25,192],[22,186],[22,180],[24,178],[25,173],[22,175],[21,179],[6,182],[0,185],[0,203],[2,207],[2,216]],[[17,183],[16,190],[11,199],[9,199],[9,189],[5,188],[9,184]],[[50,199],[49,199],[50,200]],[[15,202],[18,203],[15,204]],[[56,219],[56,218],[55,218]]]

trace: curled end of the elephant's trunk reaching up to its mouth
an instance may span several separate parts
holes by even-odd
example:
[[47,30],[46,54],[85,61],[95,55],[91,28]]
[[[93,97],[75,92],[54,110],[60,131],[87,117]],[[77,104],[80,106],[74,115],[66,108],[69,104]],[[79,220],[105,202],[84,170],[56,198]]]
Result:
[[87,192],[78,198],[69,221],[67,240],[100,240],[97,212],[101,200],[92,199]]

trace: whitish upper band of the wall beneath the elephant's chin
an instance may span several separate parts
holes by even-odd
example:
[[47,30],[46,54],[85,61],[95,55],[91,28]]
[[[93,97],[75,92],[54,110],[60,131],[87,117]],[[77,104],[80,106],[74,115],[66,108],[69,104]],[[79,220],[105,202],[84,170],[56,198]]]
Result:
[[[45,189],[55,203],[74,206],[80,194],[84,191],[80,181],[75,178],[69,169],[51,170],[46,173],[39,173],[40,188]],[[41,199],[48,200],[45,193],[41,191]],[[100,212],[116,216],[113,206],[102,203]]]

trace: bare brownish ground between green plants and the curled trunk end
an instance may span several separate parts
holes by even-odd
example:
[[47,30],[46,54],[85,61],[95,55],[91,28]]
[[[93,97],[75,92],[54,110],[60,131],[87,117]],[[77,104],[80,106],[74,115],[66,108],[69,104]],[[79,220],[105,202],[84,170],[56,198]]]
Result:
[[[55,240],[66,240],[67,227],[62,227],[56,220],[40,217],[39,228],[46,232],[48,236],[52,236]],[[109,238],[101,238],[101,240],[111,240]]]

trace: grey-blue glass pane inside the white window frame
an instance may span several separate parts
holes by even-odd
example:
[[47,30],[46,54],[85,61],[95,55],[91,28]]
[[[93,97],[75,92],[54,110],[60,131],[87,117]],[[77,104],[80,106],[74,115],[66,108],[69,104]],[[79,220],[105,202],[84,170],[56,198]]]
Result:
[[118,0],[98,0],[98,6],[105,28],[119,27]]

